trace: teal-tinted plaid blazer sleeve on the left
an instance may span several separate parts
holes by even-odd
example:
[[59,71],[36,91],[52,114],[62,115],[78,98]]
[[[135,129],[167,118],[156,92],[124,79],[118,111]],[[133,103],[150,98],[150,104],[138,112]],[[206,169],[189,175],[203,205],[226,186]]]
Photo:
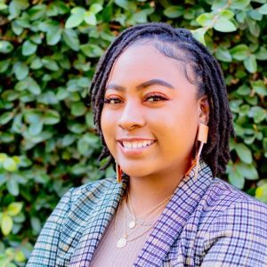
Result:
[[72,189],[67,191],[49,216],[40,232],[36,245],[30,255],[27,267],[56,266],[61,225],[69,213]]

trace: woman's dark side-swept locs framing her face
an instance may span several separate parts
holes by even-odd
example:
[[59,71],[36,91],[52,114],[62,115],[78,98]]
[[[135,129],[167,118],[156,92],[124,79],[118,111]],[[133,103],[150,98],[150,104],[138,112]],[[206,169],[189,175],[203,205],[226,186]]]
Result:
[[[193,38],[189,30],[173,28],[162,22],[151,22],[126,28],[109,45],[97,64],[87,104],[90,105],[91,101],[93,103],[93,120],[103,144],[99,159],[109,158],[102,169],[110,164],[113,166],[115,164],[101,132],[101,110],[109,72],[125,48],[142,39],[149,40],[150,44],[154,44],[166,56],[190,64],[195,77],[194,83],[198,85],[197,96],[206,94],[210,108],[208,123],[210,130],[202,158],[210,166],[214,176],[224,174],[230,159],[229,138],[234,135],[234,130],[222,69],[206,47]],[[180,52],[179,56],[175,52]],[[187,73],[185,74],[188,77]]]

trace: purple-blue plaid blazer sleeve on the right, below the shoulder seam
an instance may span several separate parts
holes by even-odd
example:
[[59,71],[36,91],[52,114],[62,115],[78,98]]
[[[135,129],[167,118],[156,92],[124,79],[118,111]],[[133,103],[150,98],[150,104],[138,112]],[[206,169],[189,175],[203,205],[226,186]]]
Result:
[[201,266],[267,266],[267,206],[236,203],[214,221]]

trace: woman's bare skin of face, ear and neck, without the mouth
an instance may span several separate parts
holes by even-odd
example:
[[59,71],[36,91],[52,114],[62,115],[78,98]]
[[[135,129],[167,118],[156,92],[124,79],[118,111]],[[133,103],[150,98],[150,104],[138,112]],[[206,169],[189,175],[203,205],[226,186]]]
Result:
[[[206,96],[185,77],[182,63],[152,44],[132,44],[109,74],[101,129],[110,153],[130,176],[136,215],[172,195],[190,168],[199,122],[208,115]],[[171,85],[148,85],[160,79]],[[125,153],[120,138],[155,140],[138,154]]]

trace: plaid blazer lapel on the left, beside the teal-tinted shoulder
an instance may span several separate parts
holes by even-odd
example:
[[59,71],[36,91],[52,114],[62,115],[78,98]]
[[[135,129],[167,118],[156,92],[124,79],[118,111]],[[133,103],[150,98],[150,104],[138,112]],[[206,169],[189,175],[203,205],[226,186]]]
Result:
[[71,255],[69,267],[89,266],[93,253],[125,194],[126,185],[125,179],[121,183],[112,183],[107,193],[102,194],[101,199],[97,200],[90,213],[90,219],[86,222],[85,231]]

